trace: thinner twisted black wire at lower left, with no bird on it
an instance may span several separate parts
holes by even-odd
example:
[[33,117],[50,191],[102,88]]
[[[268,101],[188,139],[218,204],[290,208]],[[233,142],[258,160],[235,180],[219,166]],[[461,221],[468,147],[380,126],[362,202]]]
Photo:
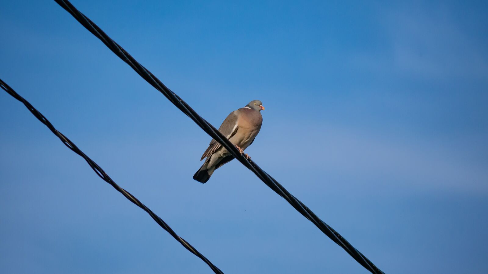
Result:
[[56,128],[47,120],[46,117],[44,117],[37,109],[35,109],[26,99],[22,98],[19,94],[17,94],[9,85],[7,85],[4,81],[0,79],[0,87],[6,91],[8,94],[10,94],[12,97],[16,98],[20,102],[22,102],[27,109],[36,117],[38,118],[44,125],[46,125],[49,130],[51,130],[54,135],[59,137],[61,139],[61,142],[65,144],[69,149],[71,149],[73,152],[76,154],[80,155],[83,157],[86,162],[90,165],[90,167],[95,171],[95,173],[100,176],[105,182],[109,183],[111,186],[113,186],[117,191],[122,193],[123,196],[125,196],[127,199],[129,199],[131,202],[133,202],[135,205],[138,207],[142,208],[145,212],[147,212],[165,231],[167,231],[173,238],[175,238],[177,241],[179,241],[188,251],[191,253],[195,254],[197,257],[201,258],[212,270],[214,273],[217,274],[223,274],[223,272],[216,267],[212,262],[210,262],[203,254],[198,252],[192,245],[190,245],[187,241],[185,241],[182,237],[178,236],[169,226],[166,224],[161,217],[156,215],[152,210],[147,208],[141,201],[139,201],[136,197],[132,196],[128,191],[124,190],[121,188],[119,185],[117,185],[112,178],[110,178],[104,171],[103,169],[90,157],[86,156],[70,139],[68,139],[66,136],[64,136],[61,132],[57,131]]

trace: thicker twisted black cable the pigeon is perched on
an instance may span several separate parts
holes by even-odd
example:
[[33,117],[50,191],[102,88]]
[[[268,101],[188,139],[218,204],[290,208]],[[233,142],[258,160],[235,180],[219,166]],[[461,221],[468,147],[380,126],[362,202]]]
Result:
[[236,157],[245,167],[250,169],[256,176],[258,176],[268,187],[270,187],[278,195],[282,196],[288,203],[290,203],[298,212],[309,219],[315,226],[317,226],[325,235],[331,238],[335,243],[341,246],[346,252],[351,255],[357,262],[363,267],[369,270],[371,273],[382,274],[383,272],[378,269],[371,261],[369,261],[365,255],[356,250],[346,239],[327,225],[317,215],[315,215],[305,204],[291,195],[278,181],[264,172],[256,163],[251,159],[247,160],[241,155],[238,149],[217,129],[215,129],[205,119],[200,117],[182,98],[167,88],[158,78],[156,78],[151,72],[144,68],[138,61],[130,56],[118,43],[112,40],[106,35],[102,29],[100,29],[94,22],[84,16],[67,0],[55,0],[62,8],[68,11],[76,20],[78,20],[88,31],[90,31],[119,58],[132,67],[142,78],[144,78],[149,84],[160,91],[168,100],[170,100],[177,108],[179,108],[184,114],[190,117],[198,126],[200,126],[210,137],[221,143],[231,154]]

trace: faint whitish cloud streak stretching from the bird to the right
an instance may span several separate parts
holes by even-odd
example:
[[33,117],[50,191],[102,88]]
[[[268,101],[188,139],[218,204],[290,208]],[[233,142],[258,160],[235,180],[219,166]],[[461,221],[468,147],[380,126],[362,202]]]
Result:
[[360,189],[367,182],[368,187],[387,186],[389,190],[488,193],[488,170],[483,164],[473,164],[462,151],[446,143],[337,127],[307,133],[314,142],[301,142],[302,137],[288,134],[286,140],[275,140],[266,147],[258,144],[254,149],[270,150],[266,154],[274,156],[273,166],[293,166],[319,175],[342,174]]

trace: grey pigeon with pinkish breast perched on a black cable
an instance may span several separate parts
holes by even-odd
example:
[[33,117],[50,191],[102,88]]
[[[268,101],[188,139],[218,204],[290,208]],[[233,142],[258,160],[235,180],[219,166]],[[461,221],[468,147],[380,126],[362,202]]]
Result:
[[[261,129],[263,124],[262,110],[264,110],[264,106],[260,100],[250,101],[245,107],[230,113],[219,128],[222,135],[227,137],[241,154],[244,153],[244,149],[252,144]],[[246,158],[250,158],[247,154],[244,155]],[[214,139],[210,141],[210,145],[200,160],[205,157],[202,167],[193,176],[193,179],[201,183],[208,181],[216,169],[234,159],[234,156]]]

